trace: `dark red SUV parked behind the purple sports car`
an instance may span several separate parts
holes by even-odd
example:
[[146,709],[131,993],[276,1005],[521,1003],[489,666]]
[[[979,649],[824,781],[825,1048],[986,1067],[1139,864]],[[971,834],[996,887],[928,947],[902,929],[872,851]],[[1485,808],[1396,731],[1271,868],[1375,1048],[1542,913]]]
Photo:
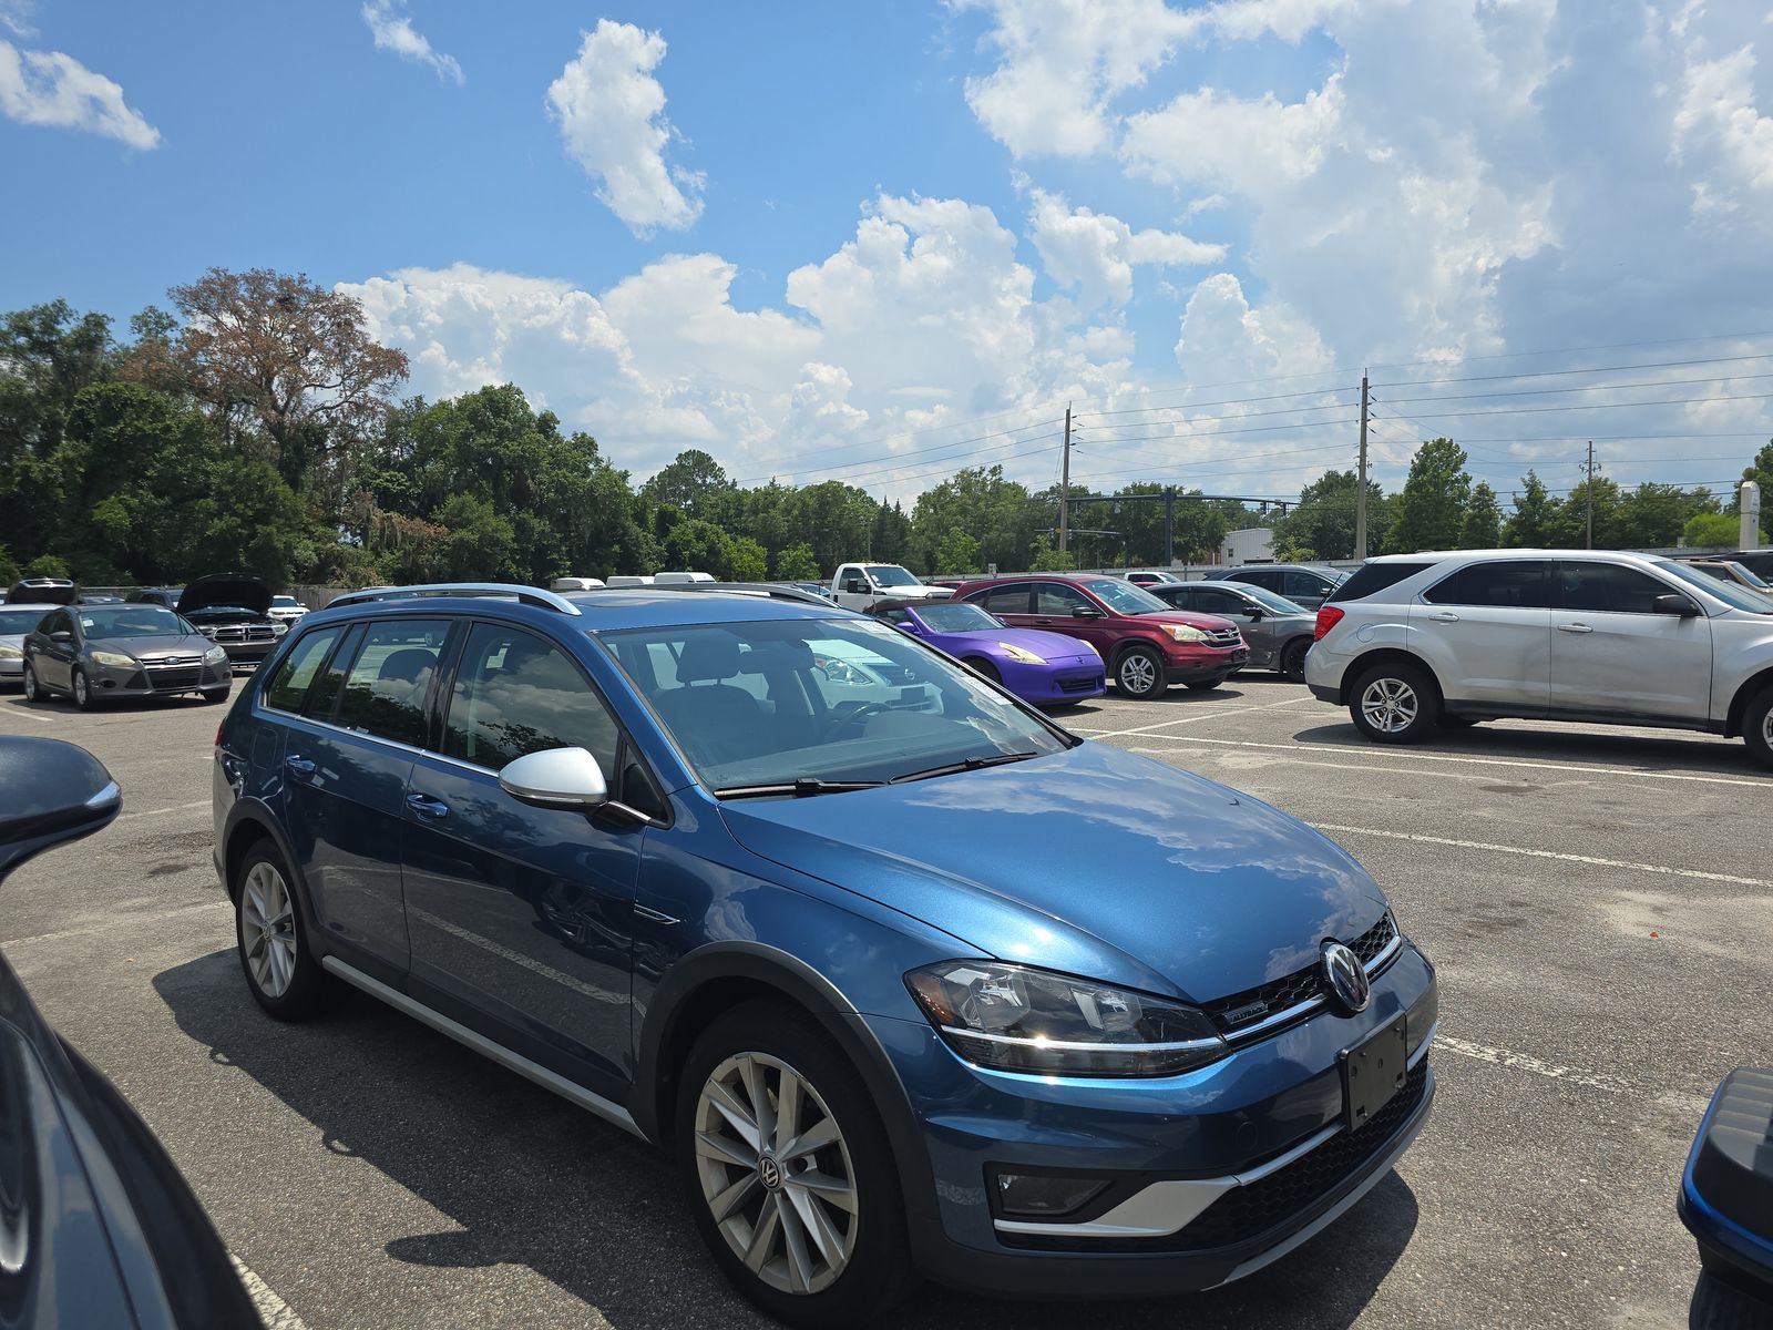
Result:
[[1230,619],[1172,610],[1144,587],[1110,576],[1023,573],[980,578],[954,592],[1011,628],[1044,628],[1096,647],[1126,697],[1156,697],[1172,683],[1218,688],[1250,660]]

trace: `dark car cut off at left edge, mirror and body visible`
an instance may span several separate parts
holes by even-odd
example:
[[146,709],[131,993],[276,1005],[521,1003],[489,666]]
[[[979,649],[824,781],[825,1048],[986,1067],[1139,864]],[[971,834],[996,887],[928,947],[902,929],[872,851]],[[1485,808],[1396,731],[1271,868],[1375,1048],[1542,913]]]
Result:
[[[85,748],[0,736],[0,880],[110,825],[122,793]],[[0,1325],[261,1325],[222,1240],[117,1089],[57,1037],[0,956]]]

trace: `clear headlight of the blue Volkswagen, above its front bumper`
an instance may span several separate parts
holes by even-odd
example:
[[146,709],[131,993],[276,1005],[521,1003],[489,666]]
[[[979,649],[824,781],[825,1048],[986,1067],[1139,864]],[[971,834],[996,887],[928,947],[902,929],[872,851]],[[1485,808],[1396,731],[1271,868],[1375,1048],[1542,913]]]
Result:
[[904,977],[947,1044],[984,1068],[1050,1076],[1172,1076],[1229,1046],[1193,1007],[1004,961]]

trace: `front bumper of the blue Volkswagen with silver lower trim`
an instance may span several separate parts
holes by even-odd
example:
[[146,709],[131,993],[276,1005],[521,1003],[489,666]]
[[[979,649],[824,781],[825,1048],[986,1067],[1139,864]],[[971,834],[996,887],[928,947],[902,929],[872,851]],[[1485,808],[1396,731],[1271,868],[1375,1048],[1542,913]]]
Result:
[[[1410,1078],[1349,1131],[1340,1052],[1406,1013],[1420,1021]],[[1433,968],[1408,945],[1360,1016],[1321,1013],[1172,1078],[995,1073],[961,1062],[927,1027],[871,1020],[915,1087],[934,1174],[940,1231],[915,1236],[918,1264],[945,1284],[1037,1296],[1161,1295],[1243,1279],[1355,1206],[1415,1140],[1434,1099],[1434,1020]],[[1018,1170],[1113,1185],[1058,1220],[1007,1218],[995,1179]]]

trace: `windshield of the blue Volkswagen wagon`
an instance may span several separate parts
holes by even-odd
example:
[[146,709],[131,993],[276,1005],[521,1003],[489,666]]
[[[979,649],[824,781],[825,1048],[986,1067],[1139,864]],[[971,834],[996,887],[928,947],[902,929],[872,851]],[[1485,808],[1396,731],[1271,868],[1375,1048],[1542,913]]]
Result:
[[716,794],[885,782],[1073,743],[956,661],[869,619],[679,624],[603,640]]

